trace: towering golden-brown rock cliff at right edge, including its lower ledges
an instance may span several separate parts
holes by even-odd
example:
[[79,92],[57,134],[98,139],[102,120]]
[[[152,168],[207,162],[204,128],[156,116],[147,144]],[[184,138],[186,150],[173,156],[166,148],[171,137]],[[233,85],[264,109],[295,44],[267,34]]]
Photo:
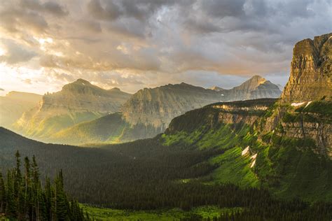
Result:
[[265,131],[280,124],[280,136],[310,138],[315,152],[332,157],[331,97],[332,33],[296,43],[289,81]]

